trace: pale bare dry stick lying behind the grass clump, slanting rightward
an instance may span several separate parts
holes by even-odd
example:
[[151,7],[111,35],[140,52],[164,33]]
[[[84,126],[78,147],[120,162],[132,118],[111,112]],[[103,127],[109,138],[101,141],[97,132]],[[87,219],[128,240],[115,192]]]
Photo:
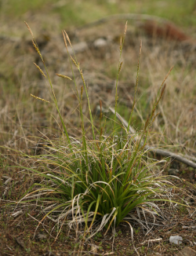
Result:
[[[113,114],[115,114],[114,108],[110,107],[109,109]],[[126,122],[126,120],[123,119],[122,116],[118,114],[118,112],[116,112],[116,116],[122,122],[123,126],[125,126],[127,128],[128,123]],[[129,126],[129,132],[136,134],[136,130],[134,130],[131,126]],[[140,137],[138,135],[136,135],[136,136],[133,137],[133,139],[134,139],[134,141],[139,141]],[[141,144],[143,144],[143,141],[141,141]],[[169,152],[167,150],[162,150],[162,149],[159,149],[159,148],[155,148],[155,147],[152,147],[150,145],[145,145],[144,148],[151,151],[151,152],[154,152],[154,154],[167,156],[167,157],[172,157],[173,159],[178,160],[181,163],[186,163],[187,166],[191,166],[193,168],[196,168],[196,163],[194,163],[191,160],[186,159],[185,157],[183,157],[181,155],[177,155],[177,154]]]

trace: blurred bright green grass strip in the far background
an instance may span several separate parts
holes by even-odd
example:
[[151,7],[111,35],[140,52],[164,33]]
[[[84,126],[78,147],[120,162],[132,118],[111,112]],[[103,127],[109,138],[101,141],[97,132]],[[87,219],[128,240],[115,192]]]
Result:
[[[11,30],[16,20],[34,20],[38,15],[47,16],[39,24],[42,29],[56,24],[56,19],[62,29],[114,13],[146,13],[172,20],[181,27],[196,25],[196,2],[193,0],[1,0],[0,9],[2,24],[8,22]],[[13,34],[17,32],[13,31]]]

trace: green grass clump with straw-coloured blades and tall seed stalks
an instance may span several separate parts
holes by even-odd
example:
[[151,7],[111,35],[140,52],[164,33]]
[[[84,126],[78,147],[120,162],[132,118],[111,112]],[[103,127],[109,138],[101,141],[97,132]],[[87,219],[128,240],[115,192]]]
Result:
[[[31,28],[28,25],[27,27],[33,37],[34,48],[45,66],[42,53],[40,53],[38,45],[34,40]],[[107,117],[103,115],[101,101],[100,128],[94,126],[88,89],[82,69],[75,56],[69,55],[71,69],[72,71],[74,70],[72,67],[74,64],[83,82],[79,92],[73,71],[73,82],[78,98],[78,112],[81,121],[80,137],[71,137],[67,132],[67,126],[60,114],[47,68],[45,67],[44,73],[36,65],[49,82],[51,97],[60,115],[62,136],[52,140],[45,134],[36,144],[36,147],[42,148],[43,153],[41,155],[24,154],[25,161],[29,160],[30,167],[23,166],[23,168],[38,174],[42,177],[42,182],[34,184],[21,200],[23,202],[36,200],[37,203],[40,203],[42,206],[41,212],[44,213],[42,221],[45,218],[55,221],[58,226],[57,234],[60,234],[63,225],[74,226],[76,233],[84,239],[89,239],[103,228],[106,228],[106,234],[111,227],[114,231],[122,221],[127,223],[129,223],[130,219],[140,221],[142,214],[145,219],[146,214],[152,214],[153,216],[161,214],[156,202],[167,200],[165,193],[167,192],[169,182],[160,176],[162,172],[158,168],[158,161],[151,159],[144,147],[149,134],[149,128],[156,117],[154,114],[155,108],[165,90],[165,79],[143,130],[138,133],[130,133],[129,129],[132,123],[133,108],[136,104],[140,57],[137,67],[135,96],[128,126],[117,123],[118,78],[122,69],[121,56],[125,33],[120,44],[114,119],[112,120],[113,126],[109,134],[108,131],[106,133]],[[71,46],[71,41],[66,31],[63,31],[63,35],[67,48],[67,42]],[[66,75],[56,75],[62,79],[71,80]],[[82,112],[84,92],[89,107],[89,114],[87,116]],[[31,96],[45,101],[34,95]],[[49,101],[46,101],[44,104],[49,104]],[[87,136],[87,133],[89,134],[89,127],[85,128],[85,120],[88,120],[89,127],[91,128],[90,136]],[[138,218],[133,214],[135,210]],[[42,221],[39,223],[42,223]],[[131,225],[130,228],[133,232]]]

